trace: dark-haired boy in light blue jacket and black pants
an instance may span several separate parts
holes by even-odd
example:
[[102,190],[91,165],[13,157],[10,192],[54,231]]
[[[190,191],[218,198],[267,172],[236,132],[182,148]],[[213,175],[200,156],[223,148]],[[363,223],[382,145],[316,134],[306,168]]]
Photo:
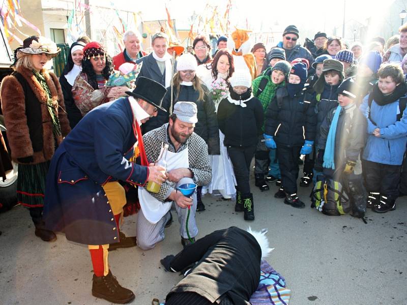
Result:
[[401,164],[407,142],[407,84],[397,64],[383,65],[379,81],[360,107],[367,117],[363,152],[367,207],[384,213],[396,208]]

